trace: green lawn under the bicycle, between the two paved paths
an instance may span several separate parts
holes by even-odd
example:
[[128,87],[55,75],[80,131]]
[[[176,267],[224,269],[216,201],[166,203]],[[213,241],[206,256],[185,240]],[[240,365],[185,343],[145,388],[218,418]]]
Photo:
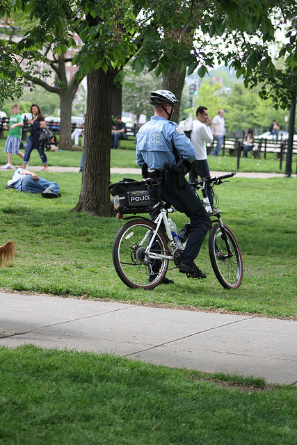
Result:
[[[206,280],[187,279],[174,268],[168,271],[174,285],[143,291],[127,288],[113,268],[113,240],[125,221],[70,213],[79,198],[78,173],[43,176],[58,181],[61,198],[45,200],[41,195],[6,190],[11,172],[1,172],[0,243],[13,239],[18,244],[13,266],[0,270],[2,289],[296,317],[295,178],[234,177],[216,189],[223,221],[234,232],[243,255],[239,289],[220,286],[206,240],[196,260]],[[111,179],[118,181],[122,175]],[[182,213],[175,213],[174,219],[178,229],[187,222]]]

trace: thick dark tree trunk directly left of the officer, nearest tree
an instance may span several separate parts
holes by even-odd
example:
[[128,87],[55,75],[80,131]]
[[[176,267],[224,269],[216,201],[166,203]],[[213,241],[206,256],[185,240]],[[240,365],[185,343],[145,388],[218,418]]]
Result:
[[[111,86],[115,70],[92,70],[87,76],[87,112],[83,147],[83,177],[79,202],[72,211],[111,216]],[[104,113],[102,112],[104,110]]]

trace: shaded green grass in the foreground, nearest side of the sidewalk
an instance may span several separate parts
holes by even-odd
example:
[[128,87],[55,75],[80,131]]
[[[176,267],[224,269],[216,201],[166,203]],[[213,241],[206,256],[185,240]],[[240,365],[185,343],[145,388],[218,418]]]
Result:
[[296,387],[111,355],[0,348],[1,445],[293,445]]

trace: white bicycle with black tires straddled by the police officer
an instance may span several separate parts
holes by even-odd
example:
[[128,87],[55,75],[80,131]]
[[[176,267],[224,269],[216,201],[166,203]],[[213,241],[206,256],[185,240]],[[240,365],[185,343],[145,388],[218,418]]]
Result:
[[[225,289],[237,289],[241,285],[243,263],[239,245],[232,231],[223,224],[220,211],[213,211],[207,197],[207,185],[222,184],[227,177],[233,177],[235,172],[221,177],[203,178],[191,185],[202,192],[202,202],[208,211],[209,227],[209,257],[211,266],[218,282]],[[157,186],[160,178],[147,178],[147,183]],[[122,282],[131,288],[154,289],[161,284],[168,269],[168,261],[173,261],[179,268],[182,252],[188,238],[182,245],[175,238],[168,213],[177,211],[174,207],[167,209],[166,202],[161,199],[156,187],[157,203],[150,208],[156,217],[149,220],[137,216],[135,221],[129,221],[119,230],[113,244],[113,264]],[[134,220],[135,216],[125,218]],[[173,267],[173,268],[175,268]],[[191,277],[187,274],[187,277]]]

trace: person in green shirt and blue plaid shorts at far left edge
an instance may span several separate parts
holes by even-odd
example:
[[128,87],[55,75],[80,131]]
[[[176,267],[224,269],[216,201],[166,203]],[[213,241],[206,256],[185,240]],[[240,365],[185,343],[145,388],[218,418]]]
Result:
[[13,168],[13,165],[11,164],[13,154],[17,154],[17,156],[24,159],[24,154],[19,151],[19,145],[22,142],[23,126],[23,119],[19,114],[19,111],[21,111],[20,106],[18,104],[13,105],[13,116],[11,116],[9,120],[8,137],[3,150],[7,154],[7,164],[3,165],[3,170],[11,170]]

